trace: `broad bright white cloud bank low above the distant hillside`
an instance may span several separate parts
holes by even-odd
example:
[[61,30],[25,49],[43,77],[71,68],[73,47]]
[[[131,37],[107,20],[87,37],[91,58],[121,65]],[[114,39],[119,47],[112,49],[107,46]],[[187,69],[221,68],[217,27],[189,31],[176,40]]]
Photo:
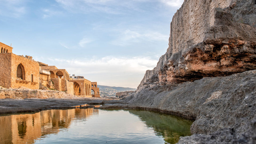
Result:
[[151,57],[114,57],[57,59],[48,58],[45,63],[54,63],[59,69],[66,69],[69,74],[84,76],[97,81],[99,85],[123,86],[136,88],[145,71],[153,69],[158,60]]

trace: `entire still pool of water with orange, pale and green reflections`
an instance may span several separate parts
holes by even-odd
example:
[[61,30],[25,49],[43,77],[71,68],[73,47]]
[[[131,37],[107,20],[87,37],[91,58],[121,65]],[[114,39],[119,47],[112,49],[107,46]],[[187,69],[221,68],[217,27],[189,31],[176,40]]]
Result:
[[176,143],[192,122],[143,110],[45,110],[0,115],[0,143]]

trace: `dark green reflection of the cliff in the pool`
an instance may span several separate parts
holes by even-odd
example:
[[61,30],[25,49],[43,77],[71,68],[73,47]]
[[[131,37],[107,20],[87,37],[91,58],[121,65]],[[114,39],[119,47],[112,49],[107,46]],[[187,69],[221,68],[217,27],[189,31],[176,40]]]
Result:
[[192,121],[181,119],[172,115],[159,114],[150,111],[129,110],[146,122],[146,125],[153,127],[157,135],[162,135],[169,143],[177,143],[180,136],[189,136]]

